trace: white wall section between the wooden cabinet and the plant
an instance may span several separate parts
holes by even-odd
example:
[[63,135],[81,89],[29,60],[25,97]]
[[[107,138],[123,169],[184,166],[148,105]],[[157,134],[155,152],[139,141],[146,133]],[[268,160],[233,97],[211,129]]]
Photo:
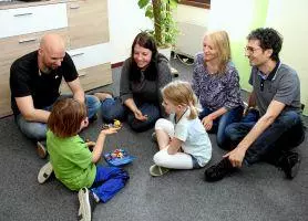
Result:
[[111,63],[123,62],[130,56],[135,35],[152,28],[151,20],[137,6],[137,0],[109,0],[109,30]]

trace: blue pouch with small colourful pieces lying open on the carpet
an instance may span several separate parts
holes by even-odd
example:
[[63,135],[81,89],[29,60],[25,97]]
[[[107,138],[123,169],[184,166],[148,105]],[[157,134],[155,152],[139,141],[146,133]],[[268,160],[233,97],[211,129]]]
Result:
[[110,166],[117,167],[132,162],[135,157],[130,156],[124,149],[115,149],[104,154],[104,158]]

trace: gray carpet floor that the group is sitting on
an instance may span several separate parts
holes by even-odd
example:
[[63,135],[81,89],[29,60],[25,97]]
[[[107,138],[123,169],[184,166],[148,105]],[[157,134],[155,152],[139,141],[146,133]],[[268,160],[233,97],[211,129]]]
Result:
[[[179,71],[178,78],[191,80],[192,66],[178,59],[173,59],[172,65]],[[119,94],[120,71],[121,67],[113,70],[114,83],[103,90]],[[102,120],[96,120],[82,136],[95,140],[101,125]],[[97,204],[93,220],[307,220],[307,140],[297,148],[302,160],[294,180],[287,180],[274,166],[258,164],[208,183],[203,180],[204,169],[151,177],[148,168],[157,151],[151,141],[152,131],[136,134],[124,123],[117,134],[107,137],[104,151],[124,148],[136,159],[125,167],[131,177],[125,188],[107,203]],[[209,137],[213,143],[209,165],[213,165],[222,159],[224,151],[217,147],[215,135]],[[38,183],[38,171],[47,160],[37,156],[34,144],[18,130],[13,117],[0,119],[0,220],[76,220],[76,192],[68,190],[54,177],[44,185]],[[102,159],[101,164],[105,161]]]

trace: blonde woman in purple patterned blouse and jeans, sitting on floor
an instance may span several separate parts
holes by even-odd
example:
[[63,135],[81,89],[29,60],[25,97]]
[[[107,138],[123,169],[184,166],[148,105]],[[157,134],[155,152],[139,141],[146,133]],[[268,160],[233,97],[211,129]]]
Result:
[[240,119],[244,105],[227,32],[205,34],[203,52],[195,56],[193,90],[203,107],[199,118],[205,129],[217,134],[218,146],[228,148],[225,128]]

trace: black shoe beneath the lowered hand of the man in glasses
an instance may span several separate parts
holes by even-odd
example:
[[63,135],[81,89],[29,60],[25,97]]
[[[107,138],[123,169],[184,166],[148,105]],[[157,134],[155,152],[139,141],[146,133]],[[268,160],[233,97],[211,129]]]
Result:
[[208,182],[215,182],[223,179],[226,175],[230,175],[236,170],[228,158],[224,158],[218,164],[207,168],[204,171],[204,178]]

